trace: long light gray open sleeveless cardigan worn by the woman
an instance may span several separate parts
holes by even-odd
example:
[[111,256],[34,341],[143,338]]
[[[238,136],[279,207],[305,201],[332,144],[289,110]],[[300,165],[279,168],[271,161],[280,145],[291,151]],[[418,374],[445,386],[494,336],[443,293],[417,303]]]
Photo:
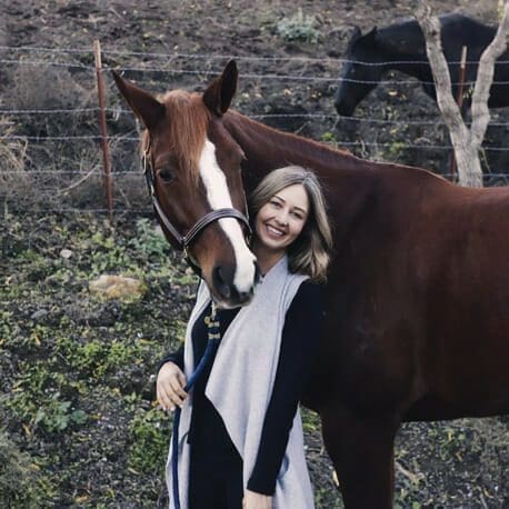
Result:
[[[222,417],[228,433],[243,460],[244,489],[257,459],[263,420],[272,393],[286,312],[307,279],[291,275],[287,257],[281,258],[257,287],[252,302],[242,308],[221,339],[206,387],[206,396]],[[210,302],[204,283],[198,289],[184,343],[184,372],[193,368],[191,330]],[[189,507],[189,445],[192,398],[182,408],[179,429],[179,493],[182,508]],[[172,503],[171,447],[167,483]],[[281,463],[273,498],[275,509],[311,509],[313,496],[306,466],[300,413],[297,412]]]

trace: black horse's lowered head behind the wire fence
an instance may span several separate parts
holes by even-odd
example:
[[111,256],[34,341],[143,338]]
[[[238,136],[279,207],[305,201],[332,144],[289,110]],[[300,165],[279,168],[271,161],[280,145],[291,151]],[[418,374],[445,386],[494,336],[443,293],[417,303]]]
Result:
[[377,87],[383,73],[382,66],[378,64],[381,60],[377,53],[376,27],[365,36],[358,27],[355,27],[345,60],[336,91],[335,107],[339,114],[351,117],[357,104]]

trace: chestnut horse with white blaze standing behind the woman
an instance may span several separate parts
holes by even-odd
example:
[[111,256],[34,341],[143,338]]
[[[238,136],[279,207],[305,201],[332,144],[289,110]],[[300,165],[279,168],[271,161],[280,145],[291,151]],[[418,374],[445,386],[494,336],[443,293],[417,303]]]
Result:
[[[181,233],[243,210],[243,190],[275,168],[320,179],[336,252],[302,400],[320,415],[346,507],[389,509],[402,421],[509,410],[509,189],[460,188],[268,128],[229,110],[237,79],[231,61],[202,94],[156,98],[116,76],[148,128],[160,212]],[[256,285],[241,224],[211,222],[188,247],[222,306]]]

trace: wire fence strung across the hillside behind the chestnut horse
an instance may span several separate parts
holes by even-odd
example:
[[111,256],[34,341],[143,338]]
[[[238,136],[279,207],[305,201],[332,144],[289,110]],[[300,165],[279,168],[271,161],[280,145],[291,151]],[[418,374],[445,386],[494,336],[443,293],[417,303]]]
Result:
[[[103,113],[112,161],[114,211],[149,212],[138,168],[140,127],[123,107],[108,71],[121,69],[128,78],[147,83],[154,91],[189,89],[196,88],[197,82],[207,83],[231,58],[243,70],[236,107],[250,118],[347,148],[361,157],[426,167],[450,177],[452,147],[438,110],[430,108],[430,102],[408,118],[398,110],[419,88],[413,79],[389,76],[377,81],[383,90],[378,94],[392,101],[389,107],[380,106],[380,101],[377,104],[375,99],[369,108],[360,109],[360,114],[339,118],[333,110],[333,93],[346,59],[114,49],[102,50],[101,56],[104,64],[100,72],[108,89],[102,110],[97,101],[97,66],[90,48],[0,46],[3,73],[14,78],[10,81],[16,83],[0,99],[0,199],[4,210],[106,212],[100,147],[103,136],[99,128],[99,116]],[[485,184],[505,186],[509,183],[509,148],[503,142],[509,117],[496,112],[489,129],[481,154]]]

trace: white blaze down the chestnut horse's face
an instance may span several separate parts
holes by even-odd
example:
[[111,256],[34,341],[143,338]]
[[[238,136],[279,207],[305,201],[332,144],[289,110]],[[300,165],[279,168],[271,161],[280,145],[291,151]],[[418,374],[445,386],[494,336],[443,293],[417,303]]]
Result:
[[[213,210],[233,207],[227,179],[216,159],[216,147],[208,139],[200,157],[200,177],[207,190],[207,200]],[[255,282],[255,256],[246,246],[239,221],[234,218],[222,218],[218,222],[233,248],[237,262],[233,285],[239,292],[250,291]]]

